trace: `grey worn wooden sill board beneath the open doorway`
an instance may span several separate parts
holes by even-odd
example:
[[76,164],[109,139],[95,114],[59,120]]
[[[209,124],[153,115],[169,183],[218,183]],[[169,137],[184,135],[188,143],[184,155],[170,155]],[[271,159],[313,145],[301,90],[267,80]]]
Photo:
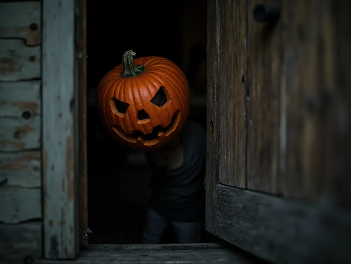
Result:
[[48,261],[39,260],[42,264],[73,264],[73,263],[101,263],[101,264],[195,264],[195,263],[221,263],[244,264],[265,263],[238,249],[207,249],[207,250],[132,250],[132,251],[83,251],[76,260]]

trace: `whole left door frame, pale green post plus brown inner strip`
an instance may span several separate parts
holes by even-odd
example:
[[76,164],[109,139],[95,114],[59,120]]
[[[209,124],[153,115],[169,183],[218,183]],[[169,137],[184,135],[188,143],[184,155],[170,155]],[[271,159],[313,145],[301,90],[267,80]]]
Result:
[[46,259],[87,246],[86,0],[42,0],[42,181]]

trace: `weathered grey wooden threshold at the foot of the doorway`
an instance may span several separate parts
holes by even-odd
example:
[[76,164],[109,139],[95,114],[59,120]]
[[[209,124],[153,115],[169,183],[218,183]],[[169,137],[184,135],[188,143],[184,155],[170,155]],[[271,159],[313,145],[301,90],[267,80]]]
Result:
[[105,245],[91,244],[75,260],[39,260],[35,264],[195,264],[265,263],[226,243]]

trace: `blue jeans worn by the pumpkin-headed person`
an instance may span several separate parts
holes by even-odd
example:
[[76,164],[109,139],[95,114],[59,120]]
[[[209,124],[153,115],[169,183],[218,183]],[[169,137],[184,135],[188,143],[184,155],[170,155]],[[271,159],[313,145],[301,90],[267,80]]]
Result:
[[166,230],[168,224],[171,223],[178,243],[200,243],[201,238],[201,223],[200,222],[175,222],[167,221],[167,219],[158,212],[148,208],[146,215],[146,224],[143,231],[144,244],[159,244],[162,235]]

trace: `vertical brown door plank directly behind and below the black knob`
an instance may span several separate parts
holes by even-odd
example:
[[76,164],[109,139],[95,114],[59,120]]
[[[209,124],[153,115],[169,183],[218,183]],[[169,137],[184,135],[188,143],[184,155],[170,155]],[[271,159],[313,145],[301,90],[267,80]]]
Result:
[[256,22],[252,11],[261,3],[281,6],[282,1],[248,0],[247,188],[275,193],[280,151],[284,152],[280,150],[280,90],[284,88],[281,82],[284,72],[282,23],[280,20],[273,25]]

